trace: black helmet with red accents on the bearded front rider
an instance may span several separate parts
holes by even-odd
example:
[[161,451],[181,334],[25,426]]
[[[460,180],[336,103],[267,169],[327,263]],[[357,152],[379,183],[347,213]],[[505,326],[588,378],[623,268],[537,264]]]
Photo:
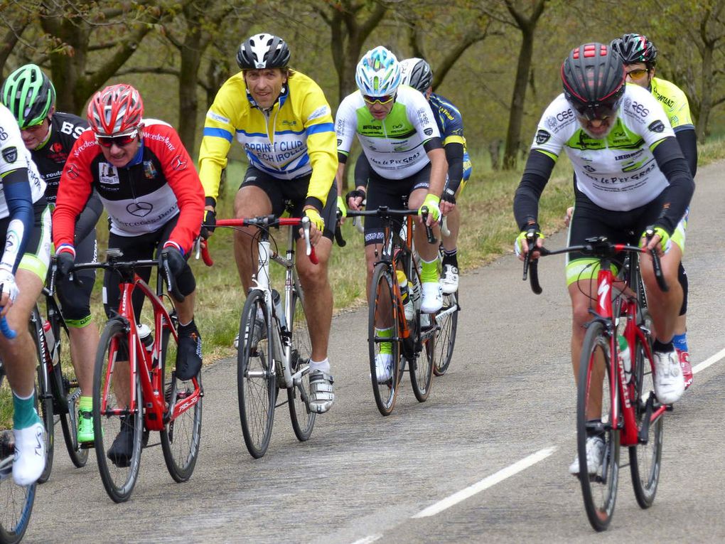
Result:
[[564,96],[579,117],[589,120],[616,112],[625,77],[621,57],[604,44],[579,46],[561,65]]

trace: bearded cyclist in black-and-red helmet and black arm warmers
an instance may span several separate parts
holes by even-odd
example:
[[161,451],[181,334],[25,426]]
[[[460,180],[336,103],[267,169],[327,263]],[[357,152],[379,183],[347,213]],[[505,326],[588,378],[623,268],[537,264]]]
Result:
[[[644,88],[625,85],[624,65],[609,46],[584,44],[573,49],[563,62],[561,78],[564,92],[542,115],[515,194],[514,215],[521,229],[515,249],[522,259],[534,249],[526,242],[526,233],[540,231],[539,197],[559,154],[566,151],[576,173],[570,244],[608,236],[616,242],[646,245],[661,254],[668,292],[662,292],[655,281],[651,257],[642,257],[641,268],[657,335],[653,346],[655,395],[660,403],[674,403],[684,391],[672,343],[682,305],[682,287],[677,281],[682,247],[670,238],[677,228],[684,228],[695,189],[692,173],[657,99]],[[650,227],[655,236],[647,240],[643,233]],[[537,245],[542,245],[542,238]],[[595,263],[591,257],[568,254],[575,377],[585,325],[592,319],[590,309],[597,300]],[[587,438],[589,474],[597,472],[604,450],[600,434]],[[569,471],[579,472],[578,459]]]

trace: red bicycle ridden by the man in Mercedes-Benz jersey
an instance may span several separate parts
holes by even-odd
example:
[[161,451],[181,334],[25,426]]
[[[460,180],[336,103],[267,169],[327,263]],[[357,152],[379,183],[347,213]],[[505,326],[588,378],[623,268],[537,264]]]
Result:
[[[103,268],[120,276],[120,302],[107,321],[96,355],[93,390],[94,447],[101,480],[117,503],[128,500],[138,479],[141,449],[149,432],[160,433],[166,468],[175,482],[191,477],[199,456],[202,432],[201,374],[181,381],[171,370],[178,350],[178,318],[168,310],[170,298],[183,300],[170,271],[157,270],[156,292],[136,271],[156,267],[156,260],[124,261],[120,250],[109,249],[104,263],[79,263],[72,271]],[[167,268],[167,265],[165,266]],[[138,334],[132,295],[141,292],[150,302],[153,342],[146,347]],[[133,435],[129,458],[109,458],[109,449],[122,426]],[[123,430],[126,430],[123,429]]]

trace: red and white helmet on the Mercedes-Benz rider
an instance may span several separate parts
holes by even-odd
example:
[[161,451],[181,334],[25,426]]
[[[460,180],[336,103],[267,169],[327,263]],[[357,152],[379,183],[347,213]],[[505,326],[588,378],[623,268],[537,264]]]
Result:
[[119,83],[98,91],[88,102],[88,123],[99,136],[127,133],[141,124],[144,101],[135,88]]

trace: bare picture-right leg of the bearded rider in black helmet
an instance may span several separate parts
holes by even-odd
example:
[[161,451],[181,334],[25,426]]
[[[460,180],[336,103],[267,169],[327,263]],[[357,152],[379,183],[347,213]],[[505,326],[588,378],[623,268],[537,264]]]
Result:
[[642,280],[647,289],[647,305],[655,325],[655,335],[660,342],[666,344],[674,336],[679,310],[682,307],[682,285],[677,279],[682,250],[672,244],[670,250],[660,257],[662,272],[668,284],[668,292],[662,292],[657,285],[652,268],[652,257],[646,255],[640,260]]

